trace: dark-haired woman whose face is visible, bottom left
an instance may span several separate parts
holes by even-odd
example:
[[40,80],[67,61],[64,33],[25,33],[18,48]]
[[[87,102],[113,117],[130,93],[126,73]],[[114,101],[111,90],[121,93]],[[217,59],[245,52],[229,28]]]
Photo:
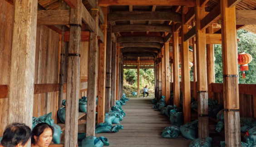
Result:
[[48,147],[52,142],[54,128],[47,123],[38,123],[32,131],[31,147]]

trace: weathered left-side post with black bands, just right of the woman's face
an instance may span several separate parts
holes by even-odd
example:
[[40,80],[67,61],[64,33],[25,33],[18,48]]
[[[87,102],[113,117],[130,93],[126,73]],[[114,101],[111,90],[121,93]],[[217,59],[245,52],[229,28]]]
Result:
[[65,147],[75,147],[77,144],[82,24],[81,5],[83,5],[82,2],[77,0],[77,9],[70,9],[69,31],[72,33],[69,33],[68,48]]

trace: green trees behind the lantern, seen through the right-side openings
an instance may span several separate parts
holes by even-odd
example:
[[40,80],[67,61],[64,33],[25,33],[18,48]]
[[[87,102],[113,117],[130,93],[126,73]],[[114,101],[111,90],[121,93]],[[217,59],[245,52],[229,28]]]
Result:
[[[239,83],[241,84],[256,84],[256,34],[250,33],[246,30],[240,29],[237,31],[237,38],[239,42],[237,43],[238,52],[246,52],[251,54],[253,60],[249,65],[249,71],[245,71],[246,78],[242,78],[242,71],[239,70]],[[215,53],[215,82],[222,83],[222,46],[220,44],[214,45]]]

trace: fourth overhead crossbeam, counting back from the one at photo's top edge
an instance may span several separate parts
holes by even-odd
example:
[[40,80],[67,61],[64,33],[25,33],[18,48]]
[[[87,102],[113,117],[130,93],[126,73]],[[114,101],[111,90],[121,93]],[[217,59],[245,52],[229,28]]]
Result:
[[152,43],[164,43],[164,38],[162,37],[154,37],[154,36],[124,36],[118,37],[117,43],[129,43],[129,42],[152,42]]

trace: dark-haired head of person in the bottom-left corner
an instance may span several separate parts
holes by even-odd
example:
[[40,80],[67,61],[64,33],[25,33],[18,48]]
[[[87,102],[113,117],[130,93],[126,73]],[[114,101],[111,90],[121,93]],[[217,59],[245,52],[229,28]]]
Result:
[[0,147],[27,147],[31,129],[24,123],[12,123],[5,128]]

